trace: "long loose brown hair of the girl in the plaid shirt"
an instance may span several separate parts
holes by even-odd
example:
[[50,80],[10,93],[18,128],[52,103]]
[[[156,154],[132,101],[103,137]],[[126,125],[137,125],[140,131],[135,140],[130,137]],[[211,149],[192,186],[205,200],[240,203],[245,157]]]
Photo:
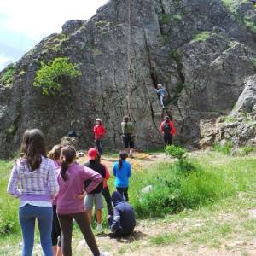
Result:
[[41,155],[47,157],[44,144],[44,133],[38,129],[26,130],[22,137],[20,156],[27,160],[32,171],[41,165]]

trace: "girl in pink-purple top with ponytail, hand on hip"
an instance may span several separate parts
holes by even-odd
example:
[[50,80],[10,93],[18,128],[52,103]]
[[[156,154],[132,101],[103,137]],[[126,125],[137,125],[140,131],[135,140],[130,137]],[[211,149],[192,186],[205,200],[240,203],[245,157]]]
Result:
[[100,253],[95,237],[90,228],[90,222],[84,208],[84,201],[78,200],[84,192],[84,182],[90,179],[87,192],[91,192],[102,182],[99,173],[76,163],[76,151],[71,146],[61,149],[61,172],[58,175],[60,191],[57,195],[57,215],[61,225],[61,245],[65,256],[72,255],[73,218],[79,225],[84,239],[94,256],[106,255]]

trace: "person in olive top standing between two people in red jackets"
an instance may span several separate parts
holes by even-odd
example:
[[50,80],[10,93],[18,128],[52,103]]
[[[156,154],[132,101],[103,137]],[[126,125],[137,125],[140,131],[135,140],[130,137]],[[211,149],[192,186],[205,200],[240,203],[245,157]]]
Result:
[[125,115],[123,122],[121,123],[122,132],[123,132],[123,143],[125,151],[132,158],[133,149],[134,149],[134,140],[135,140],[135,129],[134,125],[131,123],[129,116]]

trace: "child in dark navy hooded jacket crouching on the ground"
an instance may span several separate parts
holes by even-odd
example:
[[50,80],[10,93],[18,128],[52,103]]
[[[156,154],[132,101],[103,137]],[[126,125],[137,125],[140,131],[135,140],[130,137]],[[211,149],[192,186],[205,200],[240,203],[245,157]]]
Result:
[[108,225],[113,233],[109,236],[131,235],[136,225],[133,208],[118,191],[113,192],[112,201],[114,209],[113,215],[108,215]]

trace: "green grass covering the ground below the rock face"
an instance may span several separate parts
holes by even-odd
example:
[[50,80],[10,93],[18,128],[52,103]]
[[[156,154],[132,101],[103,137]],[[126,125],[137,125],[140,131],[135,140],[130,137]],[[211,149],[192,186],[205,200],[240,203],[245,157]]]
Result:
[[[11,235],[0,235],[1,255],[10,255],[8,253],[12,250],[15,255],[20,250],[19,201],[6,194],[12,165],[13,161],[0,161],[0,216],[3,223],[11,221],[14,224]],[[180,166],[176,161],[174,164],[153,164],[143,171],[133,170],[129,196],[138,222],[143,221],[140,219],[143,217],[148,224],[155,223],[153,229],[162,227],[160,234],[144,238],[148,246],[182,245],[185,242],[191,247],[206,245],[218,248],[224,241],[237,240],[237,234],[245,240],[256,236],[256,220],[248,219],[246,212],[248,208],[256,208],[255,166],[256,159],[253,157],[230,157],[207,152],[190,157],[188,166]],[[183,172],[188,168],[193,170]],[[143,195],[141,189],[149,184],[155,190]],[[113,191],[113,176],[108,186]],[[172,207],[177,207],[177,214],[169,214]],[[223,214],[230,215],[230,218],[223,218]],[[105,217],[104,209],[104,227],[107,231]],[[172,224],[175,224],[175,228],[169,229]],[[81,237],[75,225],[73,238],[80,241]],[[129,247],[127,244],[119,247],[116,253],[132,252],[139,246],[137,241],[133,241]],[[113,251],[113,248],[108,251]]]

